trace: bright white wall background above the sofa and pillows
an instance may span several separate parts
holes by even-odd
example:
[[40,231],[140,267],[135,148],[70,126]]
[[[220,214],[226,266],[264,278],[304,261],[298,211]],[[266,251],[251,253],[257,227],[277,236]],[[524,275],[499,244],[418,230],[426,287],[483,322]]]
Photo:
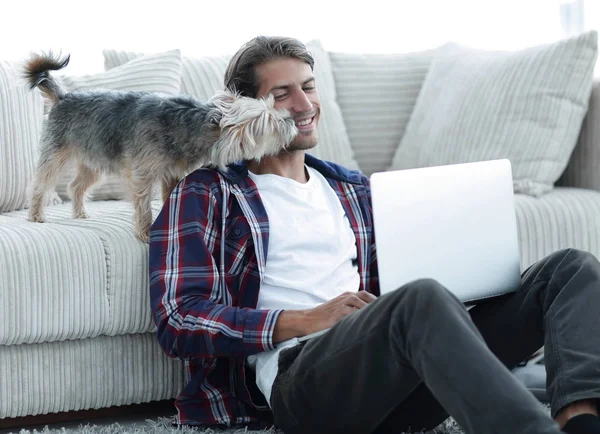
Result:
[[351,53],[410,52],[449,40],[518,49],[600,21],[597,0],[9,0],[3,9],[3,59],[62,50],[71,53],[74,74],[101,71],[104,48],[210,56],[232,53],[257,34],[285,34]]

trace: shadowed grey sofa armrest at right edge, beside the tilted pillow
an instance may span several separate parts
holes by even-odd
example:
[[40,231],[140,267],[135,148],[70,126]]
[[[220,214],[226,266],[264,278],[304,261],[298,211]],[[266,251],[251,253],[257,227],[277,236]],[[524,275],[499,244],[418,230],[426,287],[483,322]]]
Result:
[[557,185],[600,191],[600,79],[596,78],[577,146]]

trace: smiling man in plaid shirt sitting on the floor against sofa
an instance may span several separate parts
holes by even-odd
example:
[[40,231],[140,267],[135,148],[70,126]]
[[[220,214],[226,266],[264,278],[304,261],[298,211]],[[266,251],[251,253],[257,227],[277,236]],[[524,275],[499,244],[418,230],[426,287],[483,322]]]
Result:
[[[312,70],[294,39],[243,46],[226,86],[274,95],[297,139],[190,174],[152,227],[158,341],[186,363],[176,422],[386,433],[450,414],[467,433],[600,433],[598,260],[558,251],[516,293],[469,311],[427,279],[378,297],[368,178],[306,154],[320,117]],[[542,346],[552,417],[510,372]]]

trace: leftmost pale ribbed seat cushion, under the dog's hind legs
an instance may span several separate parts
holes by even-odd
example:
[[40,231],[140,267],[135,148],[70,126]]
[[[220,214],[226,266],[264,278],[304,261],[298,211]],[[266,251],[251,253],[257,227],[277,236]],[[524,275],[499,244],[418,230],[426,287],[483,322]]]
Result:
[[[48,208],[53,219],[57,205]],[[0,345],[98,336],[109,320],[104,244],[77,226],[0,216]]]

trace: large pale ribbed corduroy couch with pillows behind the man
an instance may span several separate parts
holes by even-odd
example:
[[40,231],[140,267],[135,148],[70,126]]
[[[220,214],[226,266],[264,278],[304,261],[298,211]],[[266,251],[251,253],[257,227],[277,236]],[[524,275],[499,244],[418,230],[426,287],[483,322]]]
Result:
[[[597,35],[556,44],[515,53],[482,54],[451,44],[350,54],[310,41],[323,112],[320,143],[311,152],[367,175],[407,164],[510,158],[522,268],[566,247],[600,257]],[[186,57],[179,50],[107,49],[103,55],[104,71],[71,76],[67,67],[59,74],[62,85],[208,98],[222,87],[229,59]],[[183,365],[156,342],[148,246],[133,234],[119,180],[107,177],[90,196],[90,218],[73,220],[67,167],[48,199],[47,223],[26,220],[27,184],[47,108],[37,90],[19,81],[18,67],[0,61],[0,419],[174,398],[185,382]],[[472,74],[494,77],[493,83]],[[520,82],[519,74],[533,76]],[[507,77],[507,88],[493,88]],[[462,90],[458,98],[453,89]],[[469,131],[477,122],[472,116],[482,114],[489,118]],[[498,127],[490,132],[496,139],[480,134],[486,124]],[[508,131],[518,137],[506,137]],[[518,146],[506,145],[519,137]],[[448,140],[443,152],[438,139]],[[415,143],[427,153],[415,157]],[[155,200],[154,213],[160,208]]]

